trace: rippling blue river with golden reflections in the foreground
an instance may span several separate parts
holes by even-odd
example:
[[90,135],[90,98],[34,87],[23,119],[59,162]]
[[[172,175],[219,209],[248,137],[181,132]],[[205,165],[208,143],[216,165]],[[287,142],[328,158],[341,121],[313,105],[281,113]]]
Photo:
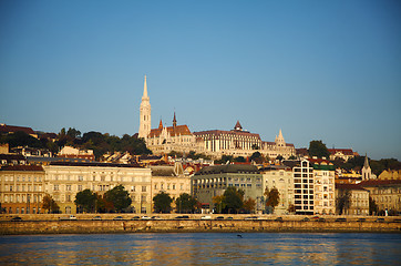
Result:
[[100,234],[0,237],[0,265],[400,265],[400,234]]

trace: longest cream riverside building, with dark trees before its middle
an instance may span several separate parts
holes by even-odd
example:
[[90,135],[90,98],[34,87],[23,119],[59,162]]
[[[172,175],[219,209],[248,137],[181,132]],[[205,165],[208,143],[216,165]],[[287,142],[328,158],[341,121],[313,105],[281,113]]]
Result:
[[103,195],[123,185],[132,198],[134,213],[152,212],[151,170],[126,164],[64,163],[43,166],[44,192],[60,206],[61,213],[74,214],[75,195],[84,190]]

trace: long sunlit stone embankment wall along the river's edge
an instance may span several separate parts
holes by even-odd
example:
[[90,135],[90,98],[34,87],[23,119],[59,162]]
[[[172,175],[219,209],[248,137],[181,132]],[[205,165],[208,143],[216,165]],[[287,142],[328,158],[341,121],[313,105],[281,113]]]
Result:
[[[21,215],[22,216],[22,215]],[[234,219],[200,219],[200,216],[189,219],[175,219],[177,215],[169,215],[162,219],[124,219],[113,221],[116,215],[102,215],[102,221],[92,221],[93,215],[80,215],[76,221],[59,221],[58,215],[43,221],[43,215],[23,217],[21,222],[0,219],[0,234],[100,234],[100,233],[143,233],[143,232],[378,232],[401,233],[401,223],[394,219],[385,219],[384,223],[357,222],[347,218],[348,222],[335,222],[335,218],[326,222],[302,222],[299,216],[295,218],[282,217],[284,222],[258,217],[258,219],[243,219],[234,216]],[[64,215],[65,216],[65,215]],[[110,216],[110,217],[109,217]],[[89,218],[90,217],[90,218]],[[124,217],[124,216],[123,216]],[[172,217],[172,218],[168,218]],[[128,218],[128,217],[124,217]],[[353,219],[353,218],[352,218]]]

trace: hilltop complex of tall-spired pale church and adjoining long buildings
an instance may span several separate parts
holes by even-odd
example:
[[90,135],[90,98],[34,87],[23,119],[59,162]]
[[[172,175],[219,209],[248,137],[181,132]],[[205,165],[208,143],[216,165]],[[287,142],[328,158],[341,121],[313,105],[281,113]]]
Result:
[[239,121],[232,131],[212,130],[192,133],[187,125],[177,125],[174,112],[172,126],[163,125],[161,120],[158,127],[152,129],[146,75],[140,108],[138,136],[145,140],[147,147],[156,155],[168,154],[172,151],[188,154],[194,151],[218,158],[222,155],[247,157],[254,152],[260,152],[270,158],[279,155],[288,158],[296,154],[294,144],[285,142],[281,130],[275,142],[264,142],[259,134],[243,130]]

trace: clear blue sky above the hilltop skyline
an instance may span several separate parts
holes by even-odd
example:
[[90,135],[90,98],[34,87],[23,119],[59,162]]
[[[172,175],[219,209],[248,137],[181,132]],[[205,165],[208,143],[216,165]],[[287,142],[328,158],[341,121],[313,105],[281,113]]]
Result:
[[0,123],[243,127],[401,160],[400,1],[0,0]]

